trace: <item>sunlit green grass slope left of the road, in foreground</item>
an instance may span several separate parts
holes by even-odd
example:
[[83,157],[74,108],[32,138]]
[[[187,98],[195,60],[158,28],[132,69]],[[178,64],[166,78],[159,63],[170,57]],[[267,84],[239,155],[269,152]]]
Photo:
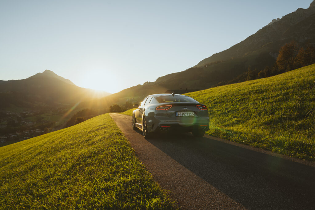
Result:
[[108,114],[0,148],[0,209],[172,209]]

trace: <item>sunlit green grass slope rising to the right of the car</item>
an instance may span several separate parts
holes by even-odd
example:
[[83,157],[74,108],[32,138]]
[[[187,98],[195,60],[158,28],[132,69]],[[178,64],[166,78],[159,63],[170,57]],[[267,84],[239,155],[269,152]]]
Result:
[[208,106],[207,134],[315,160],[315,65],[187,95]]

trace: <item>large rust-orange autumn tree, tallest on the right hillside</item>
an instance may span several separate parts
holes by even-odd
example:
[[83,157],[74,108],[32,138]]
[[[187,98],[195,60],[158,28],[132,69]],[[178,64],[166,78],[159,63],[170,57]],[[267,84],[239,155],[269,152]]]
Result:
[[295,41],[286,43],[279,50],[277,65],[281,72],[295,69],[294,60],[297,54],[297,45]]

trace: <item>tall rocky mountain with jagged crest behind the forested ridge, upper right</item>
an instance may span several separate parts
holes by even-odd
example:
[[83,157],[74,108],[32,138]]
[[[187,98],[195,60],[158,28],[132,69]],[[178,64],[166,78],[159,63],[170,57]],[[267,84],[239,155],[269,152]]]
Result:
[[[209,58],[200,61],[196,67],[204,66],[218,60],[229,60],[231,58],[241,58],[253,54],[257,50],[268,52],[271,55],[279,50],[279,44],[295,40],[298,43],[314,43],[314,14],[315,1],[310,4],[308,9],[299,8],[295,12],[283,16],[281,19],[273,20],[267,26],[249,36],[244,41],[224,50],[213,54]],[[299,26],[301,30],[297,30]],[[275,58],[275,56],[273,56]]]

